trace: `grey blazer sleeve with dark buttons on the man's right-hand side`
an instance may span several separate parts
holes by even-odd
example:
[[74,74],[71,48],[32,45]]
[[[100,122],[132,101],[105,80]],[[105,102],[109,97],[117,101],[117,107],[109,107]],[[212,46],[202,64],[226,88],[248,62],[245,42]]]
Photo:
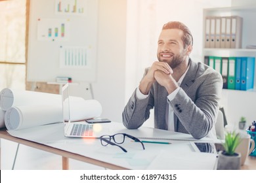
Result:
[[215,125],[222,86],[222,76],[209,69],[194,81],[188,91],[181,88],[175,99],[168,102],[179,122],[195,139],[205,137]]

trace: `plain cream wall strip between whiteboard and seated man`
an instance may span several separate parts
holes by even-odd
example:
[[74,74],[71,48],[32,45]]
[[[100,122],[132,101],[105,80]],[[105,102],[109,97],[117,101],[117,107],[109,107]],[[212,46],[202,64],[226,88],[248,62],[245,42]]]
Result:
[[126,0],[98,1],[98,63],[95,99],[102,117],[121,122],[125,105]]

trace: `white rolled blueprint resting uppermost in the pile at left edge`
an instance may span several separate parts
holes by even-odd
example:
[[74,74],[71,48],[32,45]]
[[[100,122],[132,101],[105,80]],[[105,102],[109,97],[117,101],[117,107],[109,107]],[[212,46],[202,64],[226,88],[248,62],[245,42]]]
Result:
[[0,108],[3,110],[8,110],[15,106],[49,104],[61,104],[61,95],[28,90],[19,91],[10,88],[4,88],[0,92]]

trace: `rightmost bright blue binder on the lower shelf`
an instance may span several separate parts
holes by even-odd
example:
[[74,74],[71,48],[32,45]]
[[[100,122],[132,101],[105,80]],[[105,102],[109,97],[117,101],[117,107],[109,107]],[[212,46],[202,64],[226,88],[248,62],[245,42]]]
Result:
[[254,84],[255,58],[241,59],[241,90],[249,90]]

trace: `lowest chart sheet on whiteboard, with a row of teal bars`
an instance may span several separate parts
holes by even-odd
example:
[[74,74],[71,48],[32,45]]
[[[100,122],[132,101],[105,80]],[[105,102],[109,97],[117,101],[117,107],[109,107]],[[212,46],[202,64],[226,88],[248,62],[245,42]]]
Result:
[[60,47],[60,67],[89,67],[88,48],[79,46]]

